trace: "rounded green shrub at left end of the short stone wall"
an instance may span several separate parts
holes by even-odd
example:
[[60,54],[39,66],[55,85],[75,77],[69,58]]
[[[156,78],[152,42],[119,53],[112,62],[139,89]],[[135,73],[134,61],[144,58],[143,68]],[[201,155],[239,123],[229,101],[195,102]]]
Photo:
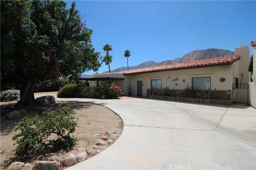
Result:
[[58,93],[57,97],[65,98],[65,97],[76,97],[77,96],[77,84],[66,84],[62,87]]

